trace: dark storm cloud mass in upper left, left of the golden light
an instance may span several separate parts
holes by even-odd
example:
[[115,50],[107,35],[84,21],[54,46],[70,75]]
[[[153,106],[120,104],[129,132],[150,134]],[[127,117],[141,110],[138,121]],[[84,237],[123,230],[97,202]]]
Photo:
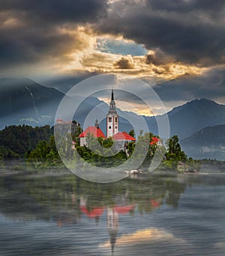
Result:
[[46,57],[63,59],[81,45],[76,35],[60,29],[95,23],[106,8],[106,0],[1,0],[1,68]]

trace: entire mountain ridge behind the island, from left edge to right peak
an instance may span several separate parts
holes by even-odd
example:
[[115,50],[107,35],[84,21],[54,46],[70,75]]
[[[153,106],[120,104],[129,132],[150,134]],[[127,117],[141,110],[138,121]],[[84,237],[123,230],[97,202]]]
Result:
[[[59,103],[65,96],[55,88],[45,87],[30,79],[0,79],[0,129],[5,125],[26,123],[31,126],[42,126],[44,124],[53,125],[55,111]],[[76,102],[78,96],[68,97],[68,105]],[[94,111],[98,106],[99,111]],[[74,119],[83,123],[89,116],[88,125],[93,125],[95,119],[101,121],[103,130],[106,130],[105,116],[108,111],[105,102],[89,97],[83,101],[74,115]],[[101,117],[99,117],[101,112]],[[173,108],[168,113],[170,134],[176,134],[180,139],[191,136],[205,126],[215,126],[225,124],[225,105],[217,104],[208,99],[194,99],[184,105]],[[156,117],[139,116],[133,112],[121,111],[118,109],[120,117],[119,130],[130,130],[136,125],[136,131],[142,129],[140,125],[142,118],[148,124],[151,133],[158,134]],[[67,109],[64,113],[65,120],[70,120]],[[163,120],[166,114],[158,115],[157,120]],[[129,121],[128,121],[129,120]],[[144,131],[145,132],[145,131]]]

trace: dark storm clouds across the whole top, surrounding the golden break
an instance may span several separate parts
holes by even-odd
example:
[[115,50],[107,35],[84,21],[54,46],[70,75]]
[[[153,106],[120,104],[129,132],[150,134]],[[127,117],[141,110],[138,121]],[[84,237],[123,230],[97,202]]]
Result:
[[[58,29],[86,23],[96,32],[121,34],[157,50],[146,56],[147,64],[157,66],[168,58],[199,66],[221,64],[224,5],[225,0],[1,0],[0,66],[62,57],[82,42]],[[13,19],[16,24],[6,26]]]

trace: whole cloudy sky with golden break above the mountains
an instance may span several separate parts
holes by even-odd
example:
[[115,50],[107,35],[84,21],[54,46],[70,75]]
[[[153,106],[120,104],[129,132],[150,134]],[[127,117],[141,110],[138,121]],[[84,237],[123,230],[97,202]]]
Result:
[[1,0],[0,77],[122,73],[154,81],[168,110],[224,104],[224,12],[224,0]]

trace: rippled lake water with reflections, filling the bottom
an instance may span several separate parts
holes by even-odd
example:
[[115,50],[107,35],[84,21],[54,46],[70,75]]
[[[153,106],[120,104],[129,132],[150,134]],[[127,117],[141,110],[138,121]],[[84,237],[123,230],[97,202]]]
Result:
[[224,255],[225,175],[0,175],[0,255]]

